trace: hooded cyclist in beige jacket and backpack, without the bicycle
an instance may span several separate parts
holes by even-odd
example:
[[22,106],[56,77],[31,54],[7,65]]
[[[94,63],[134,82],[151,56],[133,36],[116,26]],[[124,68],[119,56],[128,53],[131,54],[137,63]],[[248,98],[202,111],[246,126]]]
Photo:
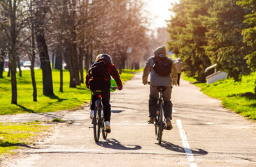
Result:
[[148,74],[150,74],[150,98],[148,101],[149,120],[148,123],[153,124],[157,115],[157,86],[164,86],[164,116],[166,118],[167,129],[172,129],[171,115],[171,88],[177,84],[176,67],[171,58],[166,57],[166,49],[164,46],[158,47],[154,51],[154,56],[151,56],[145,64],[143,70],[142,82],[148,84]]

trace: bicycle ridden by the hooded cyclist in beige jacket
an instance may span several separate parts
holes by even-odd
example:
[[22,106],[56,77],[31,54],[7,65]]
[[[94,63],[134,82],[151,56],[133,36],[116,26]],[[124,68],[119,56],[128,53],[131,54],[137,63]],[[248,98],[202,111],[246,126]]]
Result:
[[157,116],[155,118],[155,136],[158,140],[158,143],[161,144],[162,142],[162,134],[164,129],[166,129],[166,122],[164,118],[164,109],[163,109],[163,97],[162,92],[166,88],[164,86],[157,86],[157,90],[159,92],[159,97],[157,100]]

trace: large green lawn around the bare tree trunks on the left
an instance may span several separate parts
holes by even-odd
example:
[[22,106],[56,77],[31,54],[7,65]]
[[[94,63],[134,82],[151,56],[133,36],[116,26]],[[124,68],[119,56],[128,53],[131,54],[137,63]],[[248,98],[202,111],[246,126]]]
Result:
[[[134,76],[136,70],[123,70],[120,75],[122,81],[127,81]],[[17,75],[17,105],[11,103],[10,77],[7,72],[0,79],[0,115],[16,113],[39,113],[70,109],[78,109],[82,104],[90,101],[90,90],[85,84],[77,88],[69,88],[69,71],[64,70],[63,90],[59,91],[59,70],[52,70],[53,89],[55,96],[43,95],[42,71],[35,70],[38,102],[33,102],[33,88],[30,70],[22,71],[22,77]]]

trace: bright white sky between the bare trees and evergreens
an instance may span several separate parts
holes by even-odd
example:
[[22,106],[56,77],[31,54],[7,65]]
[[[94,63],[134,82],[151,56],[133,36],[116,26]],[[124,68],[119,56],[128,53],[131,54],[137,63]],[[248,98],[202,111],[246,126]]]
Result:
[[166,27],[165,20],[171,19],[171,3],[179,2],[179,0],[143,0],[146,3],[146,9],[150,11],[152,18],[152,29],[157,27]]

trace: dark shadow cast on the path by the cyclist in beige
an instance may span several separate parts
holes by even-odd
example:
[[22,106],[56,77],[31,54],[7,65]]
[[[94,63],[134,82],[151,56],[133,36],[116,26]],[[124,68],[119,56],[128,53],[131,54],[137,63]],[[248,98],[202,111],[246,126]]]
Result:
[[[160,145],[162,148],[165,148],[167,150],[171,150],[174,152],[183,152],[185,153],[185,150],[183,147],[180,147],[180,145],[175,145],[173,143],[169,143],[168,141],[162,141],[162,144]],[[205,150],[202,149],[197,149],[197,150],[191,150],[192,154],[201,154],[201,155],[205,155],[208,154],[208,152],[206,152]]]

